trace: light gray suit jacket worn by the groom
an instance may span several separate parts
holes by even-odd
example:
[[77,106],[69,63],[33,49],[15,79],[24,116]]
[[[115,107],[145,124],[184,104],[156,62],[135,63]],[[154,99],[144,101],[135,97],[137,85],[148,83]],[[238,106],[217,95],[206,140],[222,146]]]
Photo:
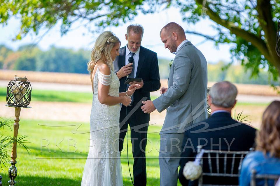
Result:
[[206,59],[191,42],[186,42],[174,58],[167,92],[153,101],[158,112],[167,109],[160,134],[183,133],[206,119],[206,91]]

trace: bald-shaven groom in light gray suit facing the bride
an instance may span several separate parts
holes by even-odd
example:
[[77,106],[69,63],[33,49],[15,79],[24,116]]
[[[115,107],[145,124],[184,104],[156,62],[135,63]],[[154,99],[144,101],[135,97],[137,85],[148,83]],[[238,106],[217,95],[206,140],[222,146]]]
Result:
[[203,54],[186,40],[185,31],[168,23],[160,31],[164,48],[176,53],[171,65],[168,89],[161,96],[144,101],[144,113],[167,109],[160,131],[160,185],[176,186],[182,142],[186,128],[206,119],[207,63]]

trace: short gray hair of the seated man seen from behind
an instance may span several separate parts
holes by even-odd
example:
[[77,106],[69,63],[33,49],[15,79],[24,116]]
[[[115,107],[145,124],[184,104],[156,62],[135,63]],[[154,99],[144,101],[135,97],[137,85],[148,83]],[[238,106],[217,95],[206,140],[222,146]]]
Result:
[[209,92],[212,99],[212,104],[230,108],[234,106],[237,96],[237,88],[229,81],[215,83]]

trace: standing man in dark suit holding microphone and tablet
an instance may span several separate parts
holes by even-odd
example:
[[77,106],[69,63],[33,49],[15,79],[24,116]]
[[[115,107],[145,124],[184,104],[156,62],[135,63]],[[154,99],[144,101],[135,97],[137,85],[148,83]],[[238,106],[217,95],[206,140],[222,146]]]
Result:
[[[141,86],[132,96],[131,106],[122,105],[120,111],[120,140],[119,151],[123,150],[123,142],[127,133],[127,124],[130,127],[132,155],[134,158],[133,178],[134,185],[146,185],[146,144],[150,114],[142,112],[142,100],[150,99],[150,92],[160,88],[160,74],[158,70],[157,53],[141,46],[144,28],[139,24],[127,27],[125,39],[127,45],[120,48],[120,55],[114,61],[115,72],[120,79],[120,92],[127,90],[124,84],[127,76],[142,78]],[[129,63],[129,58],[133,62]],[[138,84],[132,82],[130,84]],[[132,114],[132,115],[131,115]],[[127,121],[127,122],[126,122]]]

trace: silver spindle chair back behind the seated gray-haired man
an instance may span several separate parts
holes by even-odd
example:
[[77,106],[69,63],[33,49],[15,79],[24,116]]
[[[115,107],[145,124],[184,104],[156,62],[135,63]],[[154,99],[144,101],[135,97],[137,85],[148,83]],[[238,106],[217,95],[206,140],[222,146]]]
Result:
[[[201,150],[202,146],[197,146],[197,153],[200,153]],[[208,186],[203,184],[203,176],[238,178],[240,175],[242,161],[249,152],[250,151],[219,151],[204,149],[204,155],[200,160],[200,165],[204,167],[205,164],[208,164],[207,167],[209,167],[209,170],[202,169],[202,175],[199,178],[198,185]]]

